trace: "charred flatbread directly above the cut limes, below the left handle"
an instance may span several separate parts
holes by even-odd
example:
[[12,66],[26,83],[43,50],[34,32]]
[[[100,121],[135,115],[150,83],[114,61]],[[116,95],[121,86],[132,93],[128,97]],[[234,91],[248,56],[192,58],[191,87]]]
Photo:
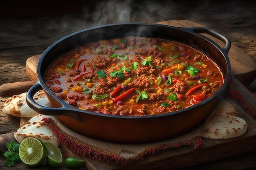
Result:
[[49,129],[48,124],[42,121],[45,117],[49,116],[38,114],[32,117],[27,124],[14,132],[15,139],[20,143],[27,137],[35,137],[43,142],[51,142],[56,146],[60,146],[58,137]]

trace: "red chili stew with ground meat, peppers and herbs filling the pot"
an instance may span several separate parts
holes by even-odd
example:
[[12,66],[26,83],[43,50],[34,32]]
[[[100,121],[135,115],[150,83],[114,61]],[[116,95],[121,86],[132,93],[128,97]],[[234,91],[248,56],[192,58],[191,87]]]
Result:
[[170,40],[120,37],[58,57],[44,82],[60,99],[95,113],[144,116],[181,110],[213,95],[224,79],[200,51]]

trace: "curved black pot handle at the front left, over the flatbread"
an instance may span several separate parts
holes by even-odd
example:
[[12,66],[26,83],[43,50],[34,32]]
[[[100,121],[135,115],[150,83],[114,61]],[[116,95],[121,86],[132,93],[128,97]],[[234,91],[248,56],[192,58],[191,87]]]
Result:
[[36,101],[34,100],[33,97],[36,94],[36,92],[38,92],[41,89],[43,89],[43,87],[37,82],[27,92],[26,102],[27,102],[27,105],[30,108],[32,108],[36,112],[42,113],[44,115],[51,115],[51,116],[64,115],[64,116],[70,116],[70,117],[74,117],[77,121],[82,122],[82,118],[76,113],[76,111],[68,110],[63,105],[60,108],[51,108],[51,107],[41,106],[40,104],[36,103]]

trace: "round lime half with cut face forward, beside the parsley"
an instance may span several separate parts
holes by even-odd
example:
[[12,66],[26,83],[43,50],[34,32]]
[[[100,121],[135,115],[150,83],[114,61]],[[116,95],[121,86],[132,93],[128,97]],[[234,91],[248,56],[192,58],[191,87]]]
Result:
[[20,143],[19,155],[27,166],[36,167],[45,161],[47,148],[40,139],[27,137]]

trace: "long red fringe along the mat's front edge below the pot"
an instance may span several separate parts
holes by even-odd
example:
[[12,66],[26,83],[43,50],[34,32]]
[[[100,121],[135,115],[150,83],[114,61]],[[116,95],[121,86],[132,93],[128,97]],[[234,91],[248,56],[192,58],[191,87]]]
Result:
[[49,125],[49,128],[52,130],[52,132],[54,132],[56,136],[58,136],[61,144],[69,148],[72,152],[89,157],[90,159],[96,159],[97,161],[103,161],[106,163],[114,163],[116,165],[125,165],[128,161],[138,161],[138,160],[143,161],[144,157],[147,155],[154,155],[160,151],[164,151],[170,148],[189,146],[191,149],[195,150],[195,149],[198,149],[203,144],[201,137],[197,136],[191,140],[182,141],[179,144],[174,144],[174,145],[162,144],[159,146],[148,148],[144,152],[137,155],[137,157],[126,159],[118,155],[103,153],[91,148],[83,141],[77,138],[71,137],[70,135],[63,132],[63,130],[59,129],[58,126],[54,124],[54,121],[50,118],[43,118],[42,121],[44,121]]

